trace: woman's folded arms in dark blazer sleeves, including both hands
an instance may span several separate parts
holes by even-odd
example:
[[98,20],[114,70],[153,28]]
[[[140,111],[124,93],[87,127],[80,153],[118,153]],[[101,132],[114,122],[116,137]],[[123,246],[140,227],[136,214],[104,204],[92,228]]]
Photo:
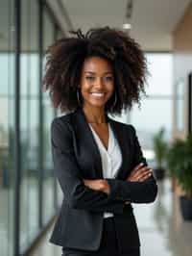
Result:
[[[126,181],[84,180],[75,158],[72,133],[67,122],[54,119],[51,143],[55,174],[65,200],[72,208],[121,214],[126,201],[145,203],[155,200],[156,182],[150,175],[152,170],[146,167],[141,170],[141,166],[136,166]],[[138,162],[135,161],[137,165],[144,162],[142,155],[139,156]]]

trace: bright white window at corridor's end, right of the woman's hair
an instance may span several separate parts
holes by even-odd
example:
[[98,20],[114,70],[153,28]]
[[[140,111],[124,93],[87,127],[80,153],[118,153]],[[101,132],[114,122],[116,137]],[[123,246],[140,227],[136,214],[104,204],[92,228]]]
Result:
[[[153,136],[161,127],[166,141],[171,140],[173,116],[173,56],[171,53],[146,54],[150,75],[147,79],[147,97],[141,100],[141,110],[135,105],[131,122],[139,141],[147,152],[153,151]],[[152,152],[153,153],[153,152]]]

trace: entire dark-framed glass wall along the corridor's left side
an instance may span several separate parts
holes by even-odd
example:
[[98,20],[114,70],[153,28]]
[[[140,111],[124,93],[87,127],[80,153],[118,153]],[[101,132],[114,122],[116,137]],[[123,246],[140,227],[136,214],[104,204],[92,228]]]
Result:
[[[21,14],[14,13],[18,10]],[[15,17],[20,22],[14,24]],[[40,53],[62,33],[40,0],[0,0],[0,22],[0,255],[12,256],[27,251],[60,205],[50,145],[50,124],[56,112],[49,95],[41,91],[39,67]],[[20,35],[20,47],[15,47],[15,35]],[[20,61],[19,73],[16,61]],[[19,148],[19,159],[15,159],[15,148]]]

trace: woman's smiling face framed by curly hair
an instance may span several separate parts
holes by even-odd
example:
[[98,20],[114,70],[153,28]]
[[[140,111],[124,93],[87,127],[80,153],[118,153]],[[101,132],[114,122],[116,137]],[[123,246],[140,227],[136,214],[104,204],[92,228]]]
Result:
[[114,90],[114,76],[109,62],[100,57],[85,59],[80,88],[84,107],[104,107]]

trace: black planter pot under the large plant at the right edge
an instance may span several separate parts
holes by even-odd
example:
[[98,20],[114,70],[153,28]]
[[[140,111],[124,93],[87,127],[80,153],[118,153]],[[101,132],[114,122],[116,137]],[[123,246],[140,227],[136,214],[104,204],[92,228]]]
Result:
[[184,220],[192,220],[192,199],[180,196],[180,212]]

